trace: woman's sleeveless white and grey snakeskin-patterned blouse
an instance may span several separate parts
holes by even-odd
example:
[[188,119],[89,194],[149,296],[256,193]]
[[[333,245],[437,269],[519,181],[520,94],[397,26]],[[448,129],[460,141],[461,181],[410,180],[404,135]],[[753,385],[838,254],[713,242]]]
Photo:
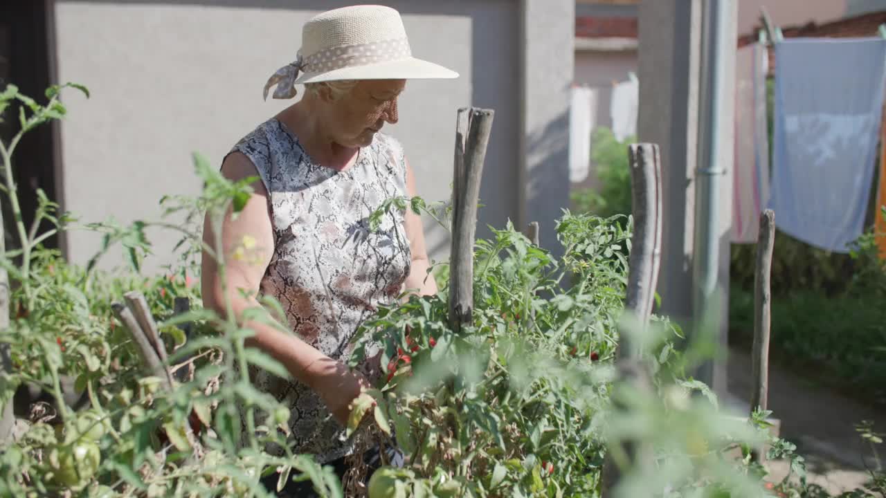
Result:
[[[394,209],[378,230],[369,230],[369,215],[385,199],[407,195],[400,144],[376,134],[354,164],[339,172],[311,160],[289,128],[271,119],[240,140],[235,151],[253,161],[269,194],[275,246],[261,294],[280,302],[300,338],[345,361],[361,322],[378,305],[396,300],[409,272],[403,214]],[[377,355],[373,360],[360,368],[369,379],[380,374]],[[344,427],[307,385],[255,368],[250,375],[261,390],[291,408],[293,452],[315,455],[320,463],[351,453],[353,441],[346,440]],[[257,413],[256,423],[265,416]],[[282,454],[281,448],[268,451]]]

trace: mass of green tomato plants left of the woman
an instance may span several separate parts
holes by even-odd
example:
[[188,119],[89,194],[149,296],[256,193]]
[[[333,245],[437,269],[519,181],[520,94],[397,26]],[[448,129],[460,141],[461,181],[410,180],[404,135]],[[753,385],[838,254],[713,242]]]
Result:
[[[67,86],[86,93],[79,85]],[[136,222],[127,227],[101,222],[78,227],[70,215],[58,214],[58,206],[40,192],[34,227],[24,226],[12,180],[12,155],[25,132],[64,116],[58,90],[47,91],[46,105],[21,95],[12,85],[0,94],[0,110],[16,101],[22,105],[19,134],[10,144],[0,144],[4,193],[19,236],[19,249],[0,254],[12,290],[11,323],[0,331],[0,342],[10,348],[12,371],[4,369],[0,375],[0,401],[8,406],[23,384],[51,393],[54,401],[27,407],[27,420],[18,421],[23,430],[4,442],[0,495],[268,495],[259,485],[259,475],[276,470],[283,472],[283,481],[290,476],[311,479],[324,496],[341,496],[338,479],[312,457],[262,451],[269,443],[285,446],[276,424],[285,422],[289,410],[255,389],[245,375],[249,364],[283,370],[267,355],[247,354],[244,340],[251,331],[198,307],[172,316],[175,296],[199,304],[193,285],[196,255],[201,250],[214,254],[187,221],[208,213],[217,222],[233,200],[249,195],[247,183],[229,183],[206,160],[195,157],[205,184],[203,194],[164,199],[164,214],[187,214],[184,223]],[[242,204],[234,202],[235,211]],[[44,221],[54,228],[39,233],[37,227]],[[140,261],[150,250],[144,237],[149,226],[183,236],[182,264],[168,276],[138,274]],[[131,268],[103,274],[95,270],[97,258],[80,268],[43,248],[48,234],[74,227],[104,234],[97,258],[113,245],[123,246]],[[161,387],[161,378],[145,375],[133,341],[111,315],[110,304],[129,291],[144,293],[171,351],[170,365],[186,370],[171,389]],[[267,306],[274,309],[273,303]],[[266,314],[256,310],[255,315],[260,319]],[[196,329],[191,340],[177,328],[185,322]],[[87,409],[71,409],[63,377],[75,379],[74,391],[88,395]],[[274,413],[276,424],[256,427],[256,407]]]

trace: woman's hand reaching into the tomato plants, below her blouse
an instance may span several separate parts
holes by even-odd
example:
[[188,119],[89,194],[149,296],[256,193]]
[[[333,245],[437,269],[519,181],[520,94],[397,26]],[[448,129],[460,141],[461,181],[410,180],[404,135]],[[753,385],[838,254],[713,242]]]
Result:
[[310,386],[320,394],[326,408],[339,424],[346,425],[352,402],[369,382],[360,373],[349,370],[342,362],[325,358],[310,368]]

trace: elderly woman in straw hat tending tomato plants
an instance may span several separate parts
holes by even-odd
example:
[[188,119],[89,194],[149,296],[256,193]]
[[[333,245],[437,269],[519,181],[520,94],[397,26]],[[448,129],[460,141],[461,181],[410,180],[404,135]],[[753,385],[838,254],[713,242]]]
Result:
[[[346,368],[354,332],[404,291],[437,292],[427,277],[418,216],[393,210],[369,230],[369,214],[385,199],[415,195],[402,147],[380,130],[398,121],[408,79],[456,76],[411,57],[393,9],[324,12],[303,28],[299,58],[265,86],[266,98],[275,84],[274,97],[291,98],[294,86],[304,84],[304,96],[245,136],[221,165],[230,180],[260,180],[243,211],[221,227],[224,281],[215,261],[203,258],[205,305],[223,312],[229,299],[238,318],[259,306],[244,294],[283,305],[293,333],[245,323],[255,331],[247,346],[282,362],[292,379],[253,371],[253,382],[291,407],[291,449],[339,473],[353,451],[344,437],[349,404],[379,374],[377,361]],[[207,224],[206,241],[214,240],[211,231]],[[258,252],[237,258],[244,239],[254,239]],[[295,487],[287,493],[310,495]]]

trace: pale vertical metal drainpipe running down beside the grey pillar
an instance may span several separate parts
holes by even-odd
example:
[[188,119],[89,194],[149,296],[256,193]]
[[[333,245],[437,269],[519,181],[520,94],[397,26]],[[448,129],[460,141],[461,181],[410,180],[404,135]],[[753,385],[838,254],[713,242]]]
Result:
[[[718,287],[720,220],[719,194],[727,181],[728,165],[722,160],[727,134],[732,128],[724,120],[727,102],[734,100],[729,94],[733,88],[727,82],[728,64],[734,64],[729,51],[735,51],[734,0],[707,0],[702,11],[702,70],[700,82],[701,102],[698,120],[698,169],[696,170],[696,233],[693,276],[695,303],[693,306],[693,331],[696,339],[714,339],[719,336],[722,314],[714,315],[723,303],[714,303]],[[707,320],[703,323],[703,319]],[[706,337],[703,337],[706,336]],[[719,343],[720,341],[717,340]],[[712,362],[705,362],[698,370],[698,379],[712,385],[714,380]]]

